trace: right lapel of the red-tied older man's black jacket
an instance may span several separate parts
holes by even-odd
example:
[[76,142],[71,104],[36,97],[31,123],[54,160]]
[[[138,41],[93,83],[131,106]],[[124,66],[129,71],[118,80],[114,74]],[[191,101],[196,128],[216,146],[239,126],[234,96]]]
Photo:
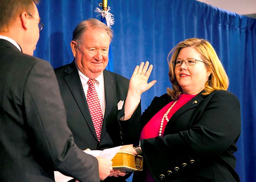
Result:
[[101,136],[104,136],[106,132],[106,119],[108,115],[110,114],[113,104],[114,104],[114,91],[116,90],[116,84],[114,83],[113,77],[111,74],[104,70],[103,71],[104,75],[104,90],[105,90],[105,99],[106,99],[106,108],[105,108],[105,114],[103,118],[103,125],[102,125],[102,131],[101,131]]

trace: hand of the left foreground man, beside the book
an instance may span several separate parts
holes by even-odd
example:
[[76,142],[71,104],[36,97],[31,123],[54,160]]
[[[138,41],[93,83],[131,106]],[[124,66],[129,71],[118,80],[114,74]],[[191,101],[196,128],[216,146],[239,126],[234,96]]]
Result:
[[96,157],[98,159],[99,163],[99,175],[100,175],[100,180],[104,180],[110,175],[110,172],[113,171],[112,168],[112,161],[102,158],[102,157]]

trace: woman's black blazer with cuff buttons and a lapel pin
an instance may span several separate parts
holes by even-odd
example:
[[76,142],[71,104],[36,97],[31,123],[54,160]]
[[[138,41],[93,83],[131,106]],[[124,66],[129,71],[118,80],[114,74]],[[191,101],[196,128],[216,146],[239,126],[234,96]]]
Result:
[[[167,94],[155,97],[141,116],[141,129],[171,101]],[[133,181],[143,181],[147,168],[155,181],[239,181],[233,153],[240,130],[235,95],[201,92],[172,116],[163,137],[141,140],[145,170]]]

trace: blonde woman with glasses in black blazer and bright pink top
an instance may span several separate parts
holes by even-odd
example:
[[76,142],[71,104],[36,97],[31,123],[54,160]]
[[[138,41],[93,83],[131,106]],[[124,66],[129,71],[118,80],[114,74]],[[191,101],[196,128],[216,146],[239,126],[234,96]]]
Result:
[[170,55],[172,89],[142,114],[140,145],[122,147],[144,157],[133,181],[239,181],[240,105],[214,48],[191,38]]

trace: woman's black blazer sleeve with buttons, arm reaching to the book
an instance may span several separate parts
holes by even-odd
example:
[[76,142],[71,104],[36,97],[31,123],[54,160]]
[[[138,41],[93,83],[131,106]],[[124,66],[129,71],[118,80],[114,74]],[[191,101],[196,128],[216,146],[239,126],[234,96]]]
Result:
[[[150,107],[148,109],[149,112]],[[142,123],[147,114],[142,114]],[[230,92],[216,91],[188,130],[141,140],[144,160],[154,179],[159,180],[159,174],[169,170],[175,173],[176,166],[189,165],[191,159],[198,162],[203,156],[212,160],[214,155],[219,155],[237,140],[240,125],[238,99]],[[156,165],[159,167],[154,167]]]

